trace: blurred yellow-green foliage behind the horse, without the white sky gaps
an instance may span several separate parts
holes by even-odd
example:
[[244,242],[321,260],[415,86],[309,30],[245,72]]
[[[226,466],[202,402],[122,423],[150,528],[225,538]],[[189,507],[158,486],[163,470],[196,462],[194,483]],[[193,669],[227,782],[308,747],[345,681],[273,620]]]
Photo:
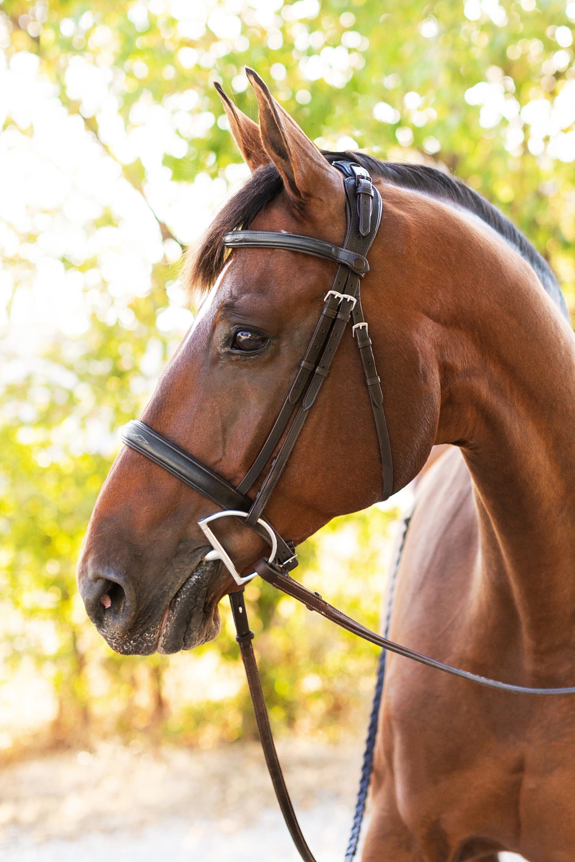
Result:
[[[559,0],[468,0],[465,8],[454,0],[3,0],[6,59],[26,52],[39,58],[39,74],[55,86],[64,109],[115,163],[118,184],[123,178],[142,206],[155,208],[165,240],[147,289],[123,305],[93,249],[85,259],[54,252],[66,273],[85,278],[87,328],[76,336],[54,334],[37,351],[41,359],[3,390],[3,679],[7,684],[28,668],[48,681],[56,739],[153,731],[207,746],[219,736],[253,734],[226,609],[216,644],[191,656],[119,657],[86,621],[73,580],[117,428],[138,415],[177,343],[158,315],[178,305],[174,240],[183,246],[193,231],[175,209],[156,203],[154,183],[165,171],[174,194],[193,183],[197,200],[205,189],[217,201],[241,178],[213,82],[255,118],[242,71],[253,66],[318,146],[447,166],[522,228],[573,303],[573,3],[567,11],[570,17]],[[100,87],[94,97],[88,84],[79,85],[78,70],[99,76],[103,93]],[[547,120],[532,122],[534,109]],[[172,138],[150,153],[145,139],[156,127],[169,128]],[[35,134],[17,116],[7,116],[3,129]],[[35,211],[53,215],[48,203]],[[0,222],[3,228],[1,214]],[[29,247],[40,243],[41,228],[8,227],[17,248],[3,234],[0,244],[14,298],[34,278]],[[121,227],[122,215],[111,206],[84,222],[88,238]],[[95,435],[107,444],[95,445]],[[304,581],[372,626],[388,521],[378,509],[337,519],[301,553]],[[247,599],[276,725],[327,734],[353,725],[371,686],[372,648],[334,632],[266,584],[251,584]],[[188,697],[192,665],[205,667],[204,679],[221,676],[227,688]]]

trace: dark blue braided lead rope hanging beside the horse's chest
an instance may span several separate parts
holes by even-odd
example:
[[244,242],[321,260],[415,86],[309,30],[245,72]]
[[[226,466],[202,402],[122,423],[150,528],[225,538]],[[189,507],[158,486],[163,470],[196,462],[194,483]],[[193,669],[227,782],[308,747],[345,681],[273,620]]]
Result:
[[[387,615],[385,616],[384,624],[385,638],[387,638],[390,630],[391,606],[393,603],[393,593],[396,586],[397,570],[399,568],[399,561],[401,559],[403,545],[405,544],[405,536],[407,535],[407,528],[409,527],[410,520],[411,513],[409,512],[409,515],[406,515],[406,517],[403,518],[403,534],[401,536],[401,539],[399,540],[399,547],[397,548],[395,565],[393,566],[393,570],[391,572],[391,580],[387,601]],[[375,738],[378,733],[379,706],[381,704],[381,696],[384,690],[386,654],[387,650],[384,649],[382,649],[381,653],[379,654],[378,676],[375,683],[375,690],[373,692],[372,714],[370,715],[369,726],[367,728],[366,750],[364,752],[363,764],[361,766],[359,790],[355,803],[355,814],[353,815],[352,834],[349,836],[349,844],[347,845],[345,862],[353,862],[353,857],[355,856],[355,853],[358,849],[361,823],[363,822],[364,814],[366,812],[367,791],[369,790],[369,783],[370,779],[372,778],[373,750],[375,748]]]

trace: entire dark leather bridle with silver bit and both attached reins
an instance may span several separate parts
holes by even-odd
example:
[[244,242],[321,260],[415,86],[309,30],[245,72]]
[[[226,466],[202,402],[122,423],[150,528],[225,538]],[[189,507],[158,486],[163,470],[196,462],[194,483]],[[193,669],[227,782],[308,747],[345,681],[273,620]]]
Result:
[[[378,434],[379,452],[383,468],[383,490],[381,500],[391,495],[393,486],[393,467],[391,461],[390,439],[385,422],[383,395],[380,378],[376,370],[372,351],[372,340],[368,334],[367,322],[361,308],[359,284],[361,278],[369,271],[367,253],[378,233],[382,214],[381,196],[372,184],[372,178],[362,166],[347,161],[332,163],[343,176],[346,192],[347,234],[343,247],[334,246],[313,237],[299,234],[278,233],[258,230],[234,230],[224,236],[224,244],[228,248],[267,247],[282,248],[304,254],[311,254],[322,259],[332,260],[338,264],[334,284],[324,297],[323,307],[316,329],[309,341],[309,346],[299,364],[291,389],[279,411],[278,418],[267,436],[266,442],[259,451],[253,465],[247,471],[241,483],[234,486],[219,476],[201,461],[184,452],[161,434],[148,428],[143,422],[132,421],[124,428],[123,442],[136,452],[141,453],[154,464],[159,465],[184,484],[197,490],[203,497],[211,500],[222,511],[209,515],[198,522],[206,539],[212,547],[204,559],[222,560],[232,578],[241,590],[230,593],[229,600],[234,616],[236,640],[238,641],[241,658],[246,670],[247,683],[253,702],[253,710],[259,729],[261,745],[266,757],[266,764],[272,784],[278,797],[279,807],[284,815],[291,838],[297,846],[305,862],[316,862],[309,851],[302,831],[297,822],[291,799],[284,782],[284,776],[279,765],[278,754],[272,738],[266,702],[259,681],[259,672],[253,653],[253,632],[247,622],[246,605],[243,598],[243,585],[259,575],[268,584],[286,593],[288,596],[303,603],[309,610],[325,616],[341,628],[352,634],[370,641],[378,647],[383,647],[392,653],[413,659],[422,665],[428,665],[436,670],[444,671],[455,677],[470,680],[491,689],[510,691],[516,694],[531,695],[564,695],[574,694],[575,686],[568,688],[528,688],[522,685],[502,683],[488,679],[478,674],[464,671],[452,665],[446,665],[437,659],[431,659],[422,653],[417,653],[408,647],[382,637],[370,629],[355,622],[333,605],[326,602],[319,593],[312,592],[291,578],[289,572],[297,566],[297,554],[293,542],[284,540],[272,525],[263,517],[272,491],[291,455],[297,438],[302,431],[309,410],[316,402],[316,397],[322,388],[323,381],[328,377],[329,369],[334,359],[341,338],[347,328],[347,323],[353,321],[353,337],[356,340],[361,356],[366,386],[372,405],[373,418]],[[292,418],[293,417],[293,418]],[[290,422],[291,420],[291,422]],[[286,430],[287,429],[287,430]],[[285,433],[285,435],[284,435]],[[278,452],[272,459],[259,491],[252,500],[247,496],[249,490],[259,479],[266,464],[278,447],[284,435],[284,440]],[[210,522],[222,517],[241,519],[248,528],[259,534],[271,546],[269,559],[262,558],[255,565],[255,572],[241,578],[233,561],[225,548],[209,527]]]

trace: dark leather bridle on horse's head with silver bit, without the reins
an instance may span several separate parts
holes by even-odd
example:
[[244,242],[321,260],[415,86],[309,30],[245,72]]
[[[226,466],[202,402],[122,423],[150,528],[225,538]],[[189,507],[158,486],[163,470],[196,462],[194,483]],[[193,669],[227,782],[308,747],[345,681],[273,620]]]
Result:
[[[171,472],[173,476],[181,479],[182,482],[190,485],[191,488],[199,491],[203,497],[208,497],[212,503],[216,503],[223,509],[216,515],[203,518],[199,525],[213,548],[207,559],[222,559],[228,572],[239,586],[246,584],[251,578],[255,578],[256,573],[253,572],[245,578],[240,577],[228,554],[209,527],[209,523],[222,516],[240,517],[247,527],[252,528],[272,545],[275,552],[270,557],[272,564],[278,565],[284,572],[289,572],[295,568],[297,565],[295,547],[291,541],[284,540],[278,535],[272,526],[262,518],[262,514],[279,477],[284,472],[285,465],[296,445],[299,434],[301,434],[309,411],[316,402],[323,381],[328,377],[330,366],[350,319],[353,321],[354,340],[362,359],[373,418],[378,433],[379,452],[383,468],[381,500],[386,500],[391,494],[393,467],[390,438],[384,415],[384,398],[373,357],[372,340],[367,331],[367,323],[359,295],[359,283],[369,271],[366,254],[378,233],[381,220],[381,196],[372,184],[372,178],[364,167],[355,165],[353,162],[334,162],[334,167],[344,175],[343,184],[346,192],[347,233],[343,247],[316,240],[312,236],[265,230],[234,230],[224,236],[224,244],[228,248],[283,248],[333,260],[338,264],[334,284],[324,298],[314,334],[309,341],[302,361],[299,363],[290,391],[266,442],[253,461],[253,465],[242,478],[241,483],[237,488],[234,488],[209,467],[188,453],[184,453],[153,431],[152,428],[148,428],[143,422],[128,422],[122,434],[122,440],[127,446],[142,455],[146,455],[155,464]],[[247,497],[247,493],[258,481],[284,434],[284,440],[279,446],[278,453],[272,460],[259,491],[252,501]]]

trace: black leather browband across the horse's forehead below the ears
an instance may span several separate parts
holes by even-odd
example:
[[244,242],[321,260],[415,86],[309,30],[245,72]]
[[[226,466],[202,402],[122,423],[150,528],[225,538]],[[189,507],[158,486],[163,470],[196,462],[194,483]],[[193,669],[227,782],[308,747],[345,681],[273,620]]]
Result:
[[233,230],[225,234],[223,244],[228,248],[282,248],[286,252],[311,254],[316,258],[334,260],[336,264],[345,264],[357,272],[359,278],[363,278],[369,270],[363,254],[302,234],[284,234],[273,230]]

